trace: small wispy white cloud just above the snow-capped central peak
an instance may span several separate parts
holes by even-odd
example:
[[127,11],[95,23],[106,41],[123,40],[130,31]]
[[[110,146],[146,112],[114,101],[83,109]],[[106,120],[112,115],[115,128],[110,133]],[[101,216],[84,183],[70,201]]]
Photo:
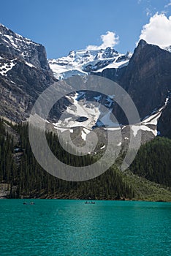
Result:
[[118,45],[119,37],[115,32],[107,31],[106,34],[102,34],[100,37],[102,39],[102,45],[88,45],[87,50],[100,50],[107,47],[113,48],[115,45]]

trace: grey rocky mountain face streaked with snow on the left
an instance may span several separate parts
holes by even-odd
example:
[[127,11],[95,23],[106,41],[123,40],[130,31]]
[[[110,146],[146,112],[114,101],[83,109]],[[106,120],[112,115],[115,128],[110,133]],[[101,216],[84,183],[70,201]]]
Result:
[[0,116],[26,120],[38,95],[54,80],[44,46],[0,25]]

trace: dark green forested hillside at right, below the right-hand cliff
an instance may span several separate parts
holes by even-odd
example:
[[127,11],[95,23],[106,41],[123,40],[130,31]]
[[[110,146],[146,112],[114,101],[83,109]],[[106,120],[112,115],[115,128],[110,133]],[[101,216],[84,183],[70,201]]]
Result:
[[171,140],[157,137],[142,145],[130,170],[150,181],[171,187]]

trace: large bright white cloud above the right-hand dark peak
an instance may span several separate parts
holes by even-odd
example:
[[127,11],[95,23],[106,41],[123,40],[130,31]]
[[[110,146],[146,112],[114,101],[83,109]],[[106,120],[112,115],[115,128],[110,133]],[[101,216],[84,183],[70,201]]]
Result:
[[171,16],[167,18],[164,13],[153,15],[142,27],[140,39],[160,47],[171,45]]

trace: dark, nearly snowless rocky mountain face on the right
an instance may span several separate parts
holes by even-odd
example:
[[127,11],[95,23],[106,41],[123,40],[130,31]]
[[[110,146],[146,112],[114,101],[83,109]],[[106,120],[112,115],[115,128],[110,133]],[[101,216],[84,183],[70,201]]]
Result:
[[[132,97],[141,118],[164,106],[171,90],[171,53],[141,40],[126,67],[97,75],[114,80]],[[118,111],[118,112],[117,112]],[[115,114],[123,120],[120,110]]]

